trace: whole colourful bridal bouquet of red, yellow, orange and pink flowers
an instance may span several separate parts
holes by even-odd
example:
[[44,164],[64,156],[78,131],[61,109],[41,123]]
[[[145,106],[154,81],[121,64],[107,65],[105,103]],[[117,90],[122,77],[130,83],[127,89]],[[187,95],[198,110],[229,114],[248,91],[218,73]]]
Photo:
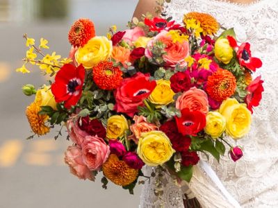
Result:
[[167,171],[189,182],[199,153],[240,159],[242,148],[227,137],[249,132],[263,92],[261,77],[252,79],[262,63],[250,44],[198,12],[184,15],[182,24],[147,14],[128,26],[112,26],[104,37],[90,19],[77,20],[68,58],[47,53],[47,40],[37,45],[24,35],[28,51],[17,71],[38,65],[49,78],[38,89],[22,88],[35,94],[26,108],[34,135],[65,126],[73,143],[65,151],[70,172],[83,180],[102,172],[104,188],[110,180],[131,193],[144,182],[138,177],[149,178],[144,165],[157,167],[152,176]]

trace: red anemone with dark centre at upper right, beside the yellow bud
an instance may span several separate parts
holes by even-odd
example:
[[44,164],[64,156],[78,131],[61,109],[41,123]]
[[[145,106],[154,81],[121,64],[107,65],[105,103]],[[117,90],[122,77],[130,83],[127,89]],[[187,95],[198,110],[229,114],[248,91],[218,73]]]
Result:
[[238,56],[240,66],[246,67],[251,71],[256,71],[257,68],[261,68],[263,63],[259,58],[252,57],[250,51],[250,43],[245,42],[238,46],[238,43],[236,42],[234,37],[228,36],[227,39],[229,40],[231,47],[233,47],[236,51],[236,55]]

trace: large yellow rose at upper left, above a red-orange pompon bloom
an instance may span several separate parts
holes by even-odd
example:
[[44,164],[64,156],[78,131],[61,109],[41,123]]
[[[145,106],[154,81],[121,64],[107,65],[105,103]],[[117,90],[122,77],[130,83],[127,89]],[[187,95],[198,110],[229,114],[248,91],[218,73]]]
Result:
[[85,46],[76,51],[75,58],[85,69],[90,69],[99,62],[106,61],[111,56],[112,50],[112,42],[107,37],[92,37]]

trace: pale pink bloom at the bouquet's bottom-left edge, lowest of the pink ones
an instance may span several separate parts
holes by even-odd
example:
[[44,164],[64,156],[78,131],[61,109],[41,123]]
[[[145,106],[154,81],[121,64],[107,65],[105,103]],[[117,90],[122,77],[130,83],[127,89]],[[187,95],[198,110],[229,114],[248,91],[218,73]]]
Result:
[[95,180],[92,171],[83,163],[82,152],[79,146],[69,146],[65,151],[65,163],[70,166],[70,172],[83,180]]

